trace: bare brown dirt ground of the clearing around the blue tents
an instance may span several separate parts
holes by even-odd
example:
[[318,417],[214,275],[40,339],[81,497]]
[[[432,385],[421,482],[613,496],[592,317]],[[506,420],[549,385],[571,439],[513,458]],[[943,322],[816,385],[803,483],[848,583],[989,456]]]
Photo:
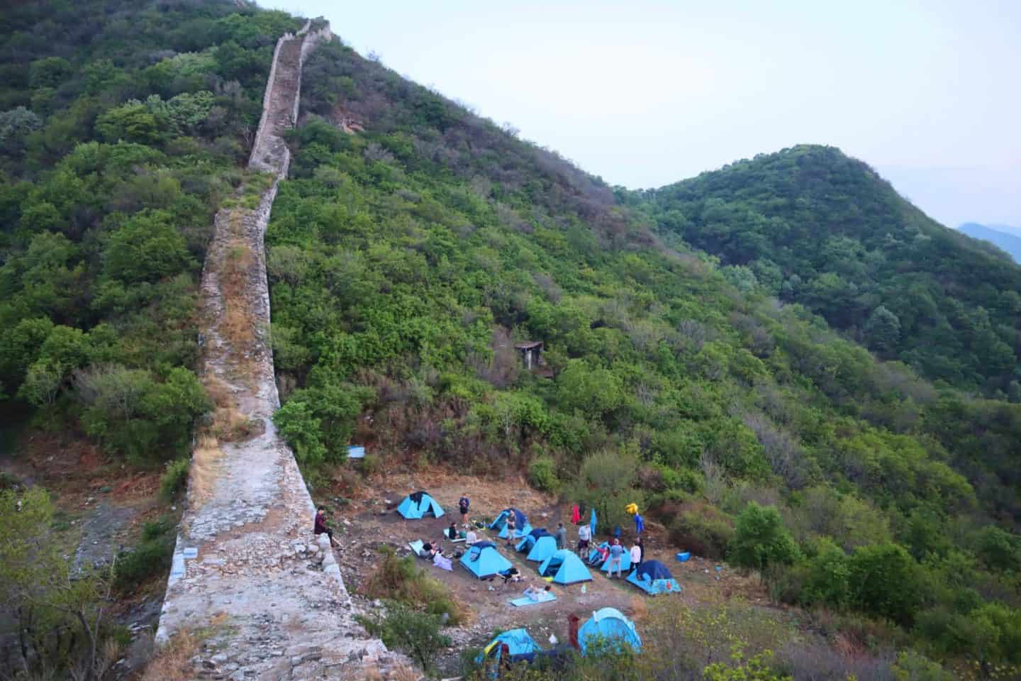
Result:
[[[373,574],[380,562],[380,551],[385,547],[404,555],[410,552],[409,542],[427,540],[438,543],[451,557],[457,548],[464,550],[464,542],[452,543],[442,538],[442,535],[450,522],[455,521],[459,525],[456,502],[466,491],[472,499],[472,520],[491,521],[508,506],[517,507],[527,514],[528,522],[533,528],[545,527],[552,531],[558,522],[563,522],[568,528],[567,548],[573,550],[577,547],[578,531],[570,523],[570,505],[558,504],[557,499],[528,487],[524,482],[515,485],[426,469],[416,473],[391,471],[386,475],[369,477],[363,483],[345,489],[344,493],[348,496],[337,497],[344,499],[339,505],[336,498],[332,503],[330,499],[324,499],[329,508],[335,508],[330,515],[335,537],[340,542],[336,551],[338,563],[348,589],[356,598],[359,597],[360,585]],[[427,491],[438,502],[444,510],[443,516],[405,520],[397,513],[397,505],[404,497],[420,490]],[[550,647],[550,634],[561,643],[567,643],[570,616],[577,615],[585,622],[592,617],[593,612],[602,607],[613,607],[634,618],[640,633],[643,601],[652,596],[642,593],[626,580],[606,579],[605,573],[596,567],[588,567],[591,581],[566,586],[553,583],[551,592],[556,596],[553,601],[524,607],[512,605],[509,600],[521,597],[526,585],[546,585],[538,572],[542,562],[527,560],[530,551],[521,552],[508,548],[505,540],[500,539],[495,530],[474,529],[480,541],[496,544],[499,554],[521,572],[524,581],[504,586],[499,577],[491,582],[476,578],[459,565],[458,560],[452,561],[453,569],[450,572],[431,566],[425,558],[418,560],[417,565],[425,568],[429,576],[436,578],[456,594],[471,612],[471,619],[465,625],[449,627],[444,631],[451,637],[452,646],[439,663],[441,670],[454,674],[459,669],[460,650],[484,647],[497,631],[524,628],[543,648]],[[602,529],[597,534],[599,541],[605,538]],[[681,587],[678,593],[658,597],[681,598],[691,604],[710,600],[715,595],[742,596],[752,603],[767,602],[766,594],[755,578],[742,577],[728,569],[718,573],[715,570],[716,564],[697,556],[687,563],[678,563],[674,555],[679,547],[669,543],[662,527],[648,524],[643,536],[647,543],[646,561],[660,561],[669,568]],[[552,537],[548,539],[552,540]],[[628,543],[631,539],[633,530],[625,532],[623,543]],[[628,572],[625,571],[625,576]]]

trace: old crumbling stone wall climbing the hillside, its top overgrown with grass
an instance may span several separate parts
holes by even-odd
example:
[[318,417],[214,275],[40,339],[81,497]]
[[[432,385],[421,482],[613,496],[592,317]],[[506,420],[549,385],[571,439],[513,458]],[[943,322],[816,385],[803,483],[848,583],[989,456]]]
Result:
[[[215,216],[202,272],[203,381],[217,414],[249,424],[244,438],[203,436],[156,634],[209,632],[196,678],[385,678],[403,665],[354,621],[354,605],[294,454],[277,435],[280,406],[270,346],[263,237],[290,152],[283,132],[297,119],[301,67],[332,39],[329,25],[277,43],[249,169],[273,182],[254,208]],[[228,440],[228,441],[225,441]]]

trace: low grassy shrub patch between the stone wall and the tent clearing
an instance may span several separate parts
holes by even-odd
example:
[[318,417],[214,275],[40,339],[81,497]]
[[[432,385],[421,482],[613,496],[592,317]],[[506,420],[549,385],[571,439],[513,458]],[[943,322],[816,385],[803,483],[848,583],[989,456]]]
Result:
[[442,582],[415,565],[414,556],[398,557],[390,548],[382,552],[383,562],[361,587],[367,596],[397,601],[440,620],[445,615],[448,625],[468,620],[465,604]]

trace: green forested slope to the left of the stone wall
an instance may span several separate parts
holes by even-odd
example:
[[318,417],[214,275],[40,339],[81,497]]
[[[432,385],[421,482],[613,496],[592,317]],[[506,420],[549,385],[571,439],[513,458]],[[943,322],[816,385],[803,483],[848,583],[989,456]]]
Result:
[[300,22],[226,2],[3,14],[0,397],[135,463],[185,453],[212,214]]

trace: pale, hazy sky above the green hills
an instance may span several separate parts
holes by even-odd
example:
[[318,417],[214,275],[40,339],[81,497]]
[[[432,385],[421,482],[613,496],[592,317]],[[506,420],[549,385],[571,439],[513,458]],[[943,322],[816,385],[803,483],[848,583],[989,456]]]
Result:
[[611,184],[831,144],[945,225],[1021,227],[1021,0],[264,6],[326,16],[361,54]]

